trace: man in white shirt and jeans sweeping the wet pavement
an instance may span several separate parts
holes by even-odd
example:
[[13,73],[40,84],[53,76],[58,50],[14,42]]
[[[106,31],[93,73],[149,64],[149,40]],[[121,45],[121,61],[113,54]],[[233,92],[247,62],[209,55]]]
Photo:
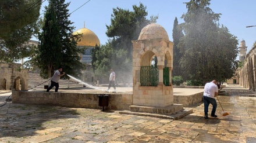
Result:
[[206,83],[204,86],[204,118],[208,119],[208,108],[209,104],[212,104],[211,117],[217,118],[215,115],[217,102],[214,97],[218,96],[218,86],[217,81],[212,80],[212,82]]

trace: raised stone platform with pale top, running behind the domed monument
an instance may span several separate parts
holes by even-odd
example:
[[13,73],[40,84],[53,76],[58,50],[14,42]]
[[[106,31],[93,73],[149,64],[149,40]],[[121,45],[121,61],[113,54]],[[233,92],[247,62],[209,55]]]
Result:
[[[119,110],[120,113],[133,115],[158,116],[165,119],[179,119],[193,112],[192,109],[184,109],[192,104],[197,104],[202,101],[201,90],[203,89],[184,89],[174,88],[175,104],[170,107],[141,107],[133,105],[133,92],[131,87],[117,87],[118,93],[107,93],[107,87],[76,87],[63,88],[55,93],[52,89],[49,93],[45,90],[29,90],[29,91],[12,91],[13,103],[22,104],[37,104],[37,105],[54,105],[61,107],[75,108],[91,108],[102,109],[98,105],[98,95],[108,94],[109,104],[105,107],[106,110]],[[144,115],[143,115],[144,114]],[[156,115],[154,115],[156,114]]]

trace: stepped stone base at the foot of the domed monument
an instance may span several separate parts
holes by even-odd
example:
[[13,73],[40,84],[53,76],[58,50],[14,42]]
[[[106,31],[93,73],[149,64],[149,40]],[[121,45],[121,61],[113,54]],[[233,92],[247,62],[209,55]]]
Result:
[[138,116],[151,116],[155,118],[177,120],[193,113],[193,108],[183,108],[182,104],[173,104],[168,107],[144,107],[131,105],[130,111],[120,111],[120,114],[130,114]]

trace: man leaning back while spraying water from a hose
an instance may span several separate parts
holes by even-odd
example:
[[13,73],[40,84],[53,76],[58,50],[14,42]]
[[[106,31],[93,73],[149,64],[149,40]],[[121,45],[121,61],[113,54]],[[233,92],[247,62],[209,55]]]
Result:
[[47,92],[49,92],[49,90],[51,90],[52,87],[54,86],[55,86],[55,92],[58,92],[59,79],[61,79],[61,76],[65,75],[65,72],[63,72],[63,74],[61,74],[61,72],[62,72],[62,67],[59,67],[59,69],[54,72],[54,76],[52,76],[51,78],[51,86],[48,87],[48,89],[46,90]]

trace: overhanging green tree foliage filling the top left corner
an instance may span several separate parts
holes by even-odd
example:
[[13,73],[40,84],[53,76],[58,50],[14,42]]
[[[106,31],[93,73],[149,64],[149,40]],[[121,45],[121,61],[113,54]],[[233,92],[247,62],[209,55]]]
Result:
[[13,62],[34,52],[26,42],[38,31],[40,7],[38,0],[0,1],[0,60]]

